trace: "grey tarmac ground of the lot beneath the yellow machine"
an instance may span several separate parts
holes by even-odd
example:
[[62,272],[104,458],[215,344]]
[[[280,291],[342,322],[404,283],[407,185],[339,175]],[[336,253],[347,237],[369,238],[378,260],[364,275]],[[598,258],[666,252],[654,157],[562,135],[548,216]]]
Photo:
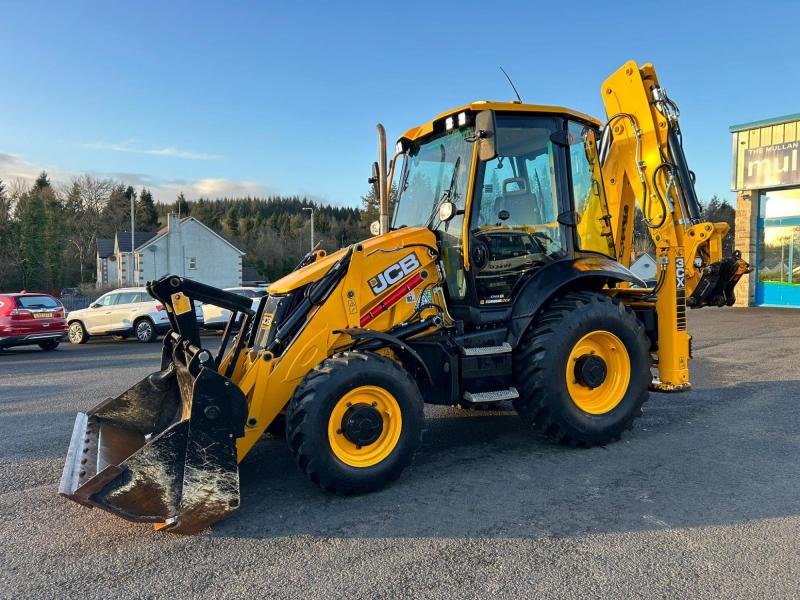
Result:
[[690,331],[693,391],[652,394],[619,443],[429,407],[415,464],[342,498],[265,439],[241,508],[195,537],[58,496],[75,413],[155,370],[159,344],[6,350],[0,597],[796,598],[800,312],[703,309]]

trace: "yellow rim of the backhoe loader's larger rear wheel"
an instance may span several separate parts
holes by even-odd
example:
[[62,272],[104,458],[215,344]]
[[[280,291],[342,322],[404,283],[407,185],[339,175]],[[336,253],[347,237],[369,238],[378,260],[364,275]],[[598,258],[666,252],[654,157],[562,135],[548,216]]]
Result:
[[[576,363],[588,356],[601,358],[605,363],[605,379],[597,387],[580,381],[575,373]],[[608,331],[587,333],[570,352],[566,378],[569,395],[583,412],[602,415],[614,410],[625,396],[631,380],[631,360],[625,344]]]

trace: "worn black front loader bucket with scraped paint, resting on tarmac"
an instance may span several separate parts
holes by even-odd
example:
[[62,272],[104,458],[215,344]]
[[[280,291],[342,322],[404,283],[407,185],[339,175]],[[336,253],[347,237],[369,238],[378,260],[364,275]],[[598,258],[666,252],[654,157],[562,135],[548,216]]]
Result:
[[125,519],[197,533],[239,506],[241,390],[177,334],[162,369],[75,419],[59,493]]

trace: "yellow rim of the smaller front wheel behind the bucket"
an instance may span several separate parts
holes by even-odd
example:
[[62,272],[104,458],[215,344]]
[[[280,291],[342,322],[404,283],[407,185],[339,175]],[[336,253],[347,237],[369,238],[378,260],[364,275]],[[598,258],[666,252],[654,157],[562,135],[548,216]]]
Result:
[[[375,441],[358,446],[345,433],[345,419],[353,410],[372,407],[380,414],[381,432]],[[381,387],[364,385],[347,392],[333,407],[328,420],[328,441],[336,457],[351,467],[371,467],[386,459],[397,446],[403,417],[395,397]]]

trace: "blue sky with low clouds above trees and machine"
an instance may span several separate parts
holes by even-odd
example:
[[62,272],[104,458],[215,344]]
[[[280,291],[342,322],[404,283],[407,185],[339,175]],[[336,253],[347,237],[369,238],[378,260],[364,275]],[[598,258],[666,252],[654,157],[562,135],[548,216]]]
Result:
[[[665,12],[669,11],[669,12]],[[390,142],[478,99],[602,118],[653,62],[701,198],[733,199],[728,126],[800,112],[797,2],[0,1],[0,178],[42,168],[154,188],[355,205]]]

